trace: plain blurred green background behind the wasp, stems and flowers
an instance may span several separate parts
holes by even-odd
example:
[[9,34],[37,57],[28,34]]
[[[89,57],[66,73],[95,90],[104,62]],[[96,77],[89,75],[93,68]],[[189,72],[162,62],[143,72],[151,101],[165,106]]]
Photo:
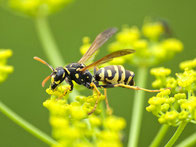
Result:
[[[181,61],[195,58],[196,51],[196,1],[189,0],[75,0],[62,11],[49,17],[52,33],[56,39],[65,62],[75,62],[81,57],[79,47],[85,35],[94,38],[98,33],[109,27],[120,28],[124,24],[141,27],[146,16],[162,18],[169,22],[174,36],[184,43],[184,51],[171,61],[161,66],[172,68],[178,72]],[[113,40],[114,37],[111,39]],[[110,40],[110,41],[111,41]],[[105,55],[107,44],[101,49],[100,55]],[[15,71],[6,82],[0,85],[0,99],[23,118],[50,134],[48,112],[42,106],[47,99],[45,88],[41,81],[51,72],[47,67],[38,64],[33,56],[47,60],[35,30],[34,21],[19,17],[0,8],[0,48],[10,48],[14,55],[9,60]],[[136,68],[126,65],[130,70]],[[137,76],[137,73],[136,73]],[[151,88],[152,76],[148,78]],[[49,83],[47,83],[49,84]],[[128,89],[109,89],[108,97],[114,114],[122,116],[127,121],[124,142],[128,138],[129,121],[132,110],[133,91]],[[147,98],[153,94],[146,94]],[[145,110],[144,110],[145,111]],[[139,146],[148,146],[156,135],[160,124],[151,113],[144,112]],[[152,127],[153,126],[153,127]],[[175,129],[167,134],[165,142]],[[178,142],[196,131],[189,124]],[[163,142],[162,146],[165,144]],[[0,114],[0,147],[46,147],[31,134],[24,131],[6,116]]]

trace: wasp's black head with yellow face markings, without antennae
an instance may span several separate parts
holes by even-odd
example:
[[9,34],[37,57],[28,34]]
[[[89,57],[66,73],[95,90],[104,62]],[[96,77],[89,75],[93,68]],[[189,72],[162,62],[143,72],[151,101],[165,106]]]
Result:
[[63,67],[57,67],[52,73],[51,89],[55,89],[64,79],[65,79],[65,69]]

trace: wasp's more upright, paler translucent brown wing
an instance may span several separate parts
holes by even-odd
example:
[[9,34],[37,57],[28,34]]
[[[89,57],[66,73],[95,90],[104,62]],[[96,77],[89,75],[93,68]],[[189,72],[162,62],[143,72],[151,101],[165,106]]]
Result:
[[82,58],[78,61],[78,63],[86,62],[95,53],[97,49],[99,49],[114,33],[116,33],[116,31],[116,28],[110,28],[97,35],[92,45],[89,47],[87,52],[82,56]]

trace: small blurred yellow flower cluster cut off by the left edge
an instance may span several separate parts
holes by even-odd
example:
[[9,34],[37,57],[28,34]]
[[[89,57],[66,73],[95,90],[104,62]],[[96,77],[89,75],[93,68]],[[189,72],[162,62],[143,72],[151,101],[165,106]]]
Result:
[[0,83],[6,80],[7,76],[13,72],[12,66],[6,65],[7,58],[12,56],[10,49],[0,49]]

